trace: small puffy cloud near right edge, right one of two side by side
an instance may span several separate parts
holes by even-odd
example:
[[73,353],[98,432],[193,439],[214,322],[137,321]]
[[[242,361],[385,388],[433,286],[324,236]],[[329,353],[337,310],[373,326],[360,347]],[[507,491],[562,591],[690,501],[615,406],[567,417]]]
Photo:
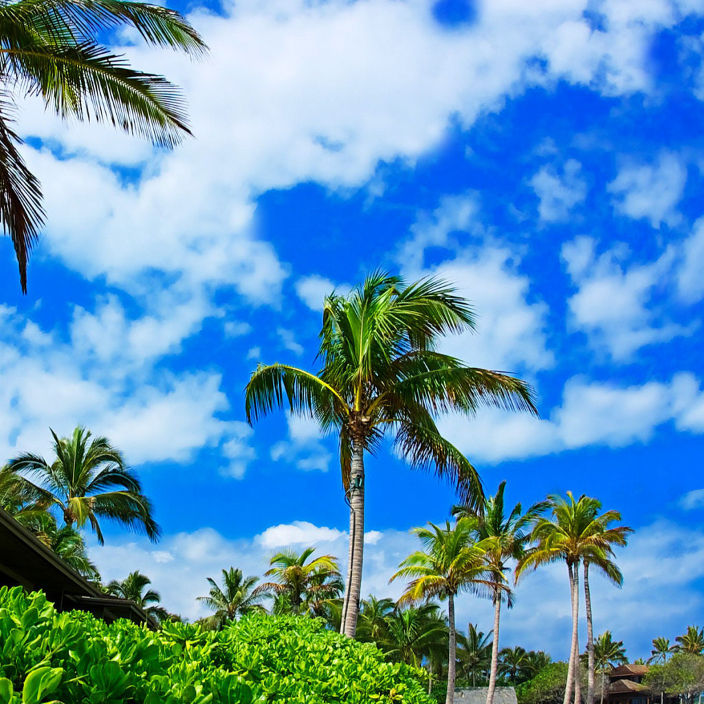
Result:
[[608,185],[615,208],[629,218],[645,218],[653,227],[678,225],[677,210],[687,180],[686,165],[670,151],[662,151],[652,164],[627,162]]

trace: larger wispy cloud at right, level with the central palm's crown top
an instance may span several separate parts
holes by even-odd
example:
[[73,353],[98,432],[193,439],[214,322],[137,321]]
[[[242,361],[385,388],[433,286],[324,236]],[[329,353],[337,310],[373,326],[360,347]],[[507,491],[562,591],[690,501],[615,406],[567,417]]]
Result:
[[626,265],[630,252],[615,245],[596,254],[596,241],[577,237],[562,246],[562,259],[577,293],[567,301],[568,327],[585,332],[592,348],[615,360],[629,360],[640,348],[691,334],[693,322],[682,327],[669,322],[652,303],[670,275],[674,249],[648,264]]

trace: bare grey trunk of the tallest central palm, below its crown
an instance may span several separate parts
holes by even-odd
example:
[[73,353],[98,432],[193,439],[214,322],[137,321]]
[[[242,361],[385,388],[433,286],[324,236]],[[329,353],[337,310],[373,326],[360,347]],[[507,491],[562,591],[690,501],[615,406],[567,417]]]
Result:
[[347,589],[342,605],[340,632],[349,638],[354,638],[359,615],[364,554],[364,446],[358,439],[354,440],[352,445],[351,482]]

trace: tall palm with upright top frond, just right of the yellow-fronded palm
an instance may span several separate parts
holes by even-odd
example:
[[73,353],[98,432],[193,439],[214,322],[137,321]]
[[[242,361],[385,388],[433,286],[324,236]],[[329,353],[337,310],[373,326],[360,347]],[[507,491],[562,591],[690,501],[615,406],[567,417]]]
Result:
[[[511,513],[506,517],[504,510],[503,492],[506,482],[498,485],[494,496],[484,501],[482,514],[472,510],[471,507],[455,506],[454,515],[477,515],[479,539],[493,538],[494,550],[489,553],[491,568],[494,570],[497,582],[505,579],[508,571],[508,561],[518,560],[524,554],[530,539],[530,529],[536,519],[548,508],[547,501],[534,503],[526,513],[522,513],[522,506],[517,503]],[[494,601],[494,643],[491,646],[491,667],[489,670],[489,689],[486,692],[486,704],[494,703],[496,689],[496,675],[498,674],[498,629],[501,620],[501,602],[505,601],[508,607],[513,605],[513,594],[510,589],[495,589],[492,595]]]

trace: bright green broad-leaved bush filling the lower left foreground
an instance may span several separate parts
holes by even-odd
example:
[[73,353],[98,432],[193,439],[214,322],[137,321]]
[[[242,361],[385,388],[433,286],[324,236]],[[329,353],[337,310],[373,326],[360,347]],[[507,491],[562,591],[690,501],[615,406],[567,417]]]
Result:
[[0,589],[0,704],[429,704],[421,676],[306,617],[153,633]]

